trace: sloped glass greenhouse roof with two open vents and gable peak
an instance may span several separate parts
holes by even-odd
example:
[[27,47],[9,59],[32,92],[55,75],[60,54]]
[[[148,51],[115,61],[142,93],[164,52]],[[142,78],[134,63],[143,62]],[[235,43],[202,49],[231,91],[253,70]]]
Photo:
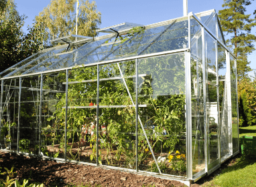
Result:
[[[190,19],[190,28],[189,19]],[[38,51],[23,61],[9,67],[0,73],[1,79],[20,77],[40,73],[48,73],[71,69],[81,65],[95,65],[97,63],[111,63],[113,61],[135,59],[143,55],[155,53],[171,53],[171,51],[188,50],[191,37],[198,37],[202,25],[225,49],[225,45],[218,16],[214,9],[202,13],[190,13],[188,16],[170,19],[151,25],[135,23],[121,23],[97,32],[109,33],[101,37],[86,37],[68,35],[53,39],[54,43],[68,43],[49,49]],[[127,31],[138,27],[139,32],[127,35]],[[70,47],[70,44],[75,47]]]

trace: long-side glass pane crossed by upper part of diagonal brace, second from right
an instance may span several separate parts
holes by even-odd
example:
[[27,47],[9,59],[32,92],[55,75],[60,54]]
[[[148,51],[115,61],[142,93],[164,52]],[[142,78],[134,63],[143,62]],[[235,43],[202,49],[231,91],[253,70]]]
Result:
[[99,160],[135,169],[135,61],[100,65],[99,77]]

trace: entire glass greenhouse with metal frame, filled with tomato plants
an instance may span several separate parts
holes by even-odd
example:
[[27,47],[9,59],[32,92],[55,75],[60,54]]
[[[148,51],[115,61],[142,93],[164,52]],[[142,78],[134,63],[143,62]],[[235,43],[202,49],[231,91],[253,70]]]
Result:
[[0,148],[190,184],[239,153],[216,11],[68,35],[0,73]]

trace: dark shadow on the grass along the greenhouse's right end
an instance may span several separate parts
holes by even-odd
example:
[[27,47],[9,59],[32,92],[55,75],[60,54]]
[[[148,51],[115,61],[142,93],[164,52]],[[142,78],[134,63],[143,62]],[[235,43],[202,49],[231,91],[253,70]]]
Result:
[[245,158],[242,154],[238,154],[234,158],[231,158],[220,165],[220,168],[218,170],[214,171],[209,176],[205,176],[204,178],[201,178],[195,184],[203,185],[206,182],[211,182],[214,180],[214,178],[218,175],[233,172],[236,170],[241,170],[251,164],[255,164],[256,160],[251,160],[248,158]]

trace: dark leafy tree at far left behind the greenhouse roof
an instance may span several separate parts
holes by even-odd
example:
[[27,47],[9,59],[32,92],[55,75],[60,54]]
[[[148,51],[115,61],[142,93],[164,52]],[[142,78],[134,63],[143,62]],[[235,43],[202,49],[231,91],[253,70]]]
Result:
[[23,33],[25,15],[19,15],[13,0],[0,3],[0,72],[48,47],[44,42],[44,23],[34,23]]

